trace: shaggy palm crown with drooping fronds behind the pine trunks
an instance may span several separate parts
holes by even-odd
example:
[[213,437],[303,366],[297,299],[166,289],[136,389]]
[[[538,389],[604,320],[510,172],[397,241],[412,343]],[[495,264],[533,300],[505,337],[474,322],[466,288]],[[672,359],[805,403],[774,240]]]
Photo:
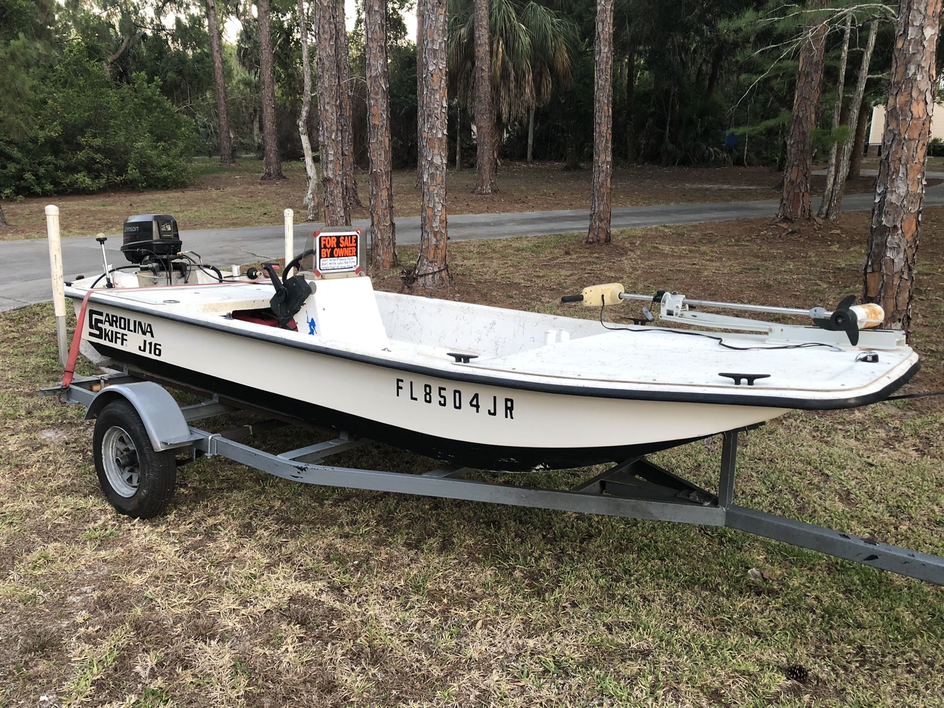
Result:
[[[475,0],[449,0],[449,93],[476,106]],[[531,120],[550,100],[554,81],[570,85],[577,26],[533,0],[489,0],[492,105],[496,122]],[[481,130],[479,119],[477,128]]]

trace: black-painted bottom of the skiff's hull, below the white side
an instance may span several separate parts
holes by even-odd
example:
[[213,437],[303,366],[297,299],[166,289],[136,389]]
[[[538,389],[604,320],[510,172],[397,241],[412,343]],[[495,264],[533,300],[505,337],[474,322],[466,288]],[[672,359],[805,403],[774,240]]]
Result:
[[622,462],[633,457],[648,455],[669,447],[678,447],[700,438],[669,440],[646,445],[627,445],[613,447],[508,447],[482,445],[462,440],[450,440],[435,435],[427,435],[417,430],[398,428],[363,418],[359,415],[335,411],[291,396],[280,396],[272,391],[253,388],[228,379],[219,379],[176,364],[161,362],[139,354],[132,354],[124,349],[92,343],[102,356],[124,362],[131,369],[140,371],[158,379],[177,381],[203,391],[218,394],[224,398],[241,401],[255,409],[266,409],[273,413],[289,415],[293,418],[311,421],[319,425],[347,430],[361,437],[400,447],[419,455],[463,464],[476,469],[497,469],[510,472],[527,471],[536,468],[570,469],[590,464]]

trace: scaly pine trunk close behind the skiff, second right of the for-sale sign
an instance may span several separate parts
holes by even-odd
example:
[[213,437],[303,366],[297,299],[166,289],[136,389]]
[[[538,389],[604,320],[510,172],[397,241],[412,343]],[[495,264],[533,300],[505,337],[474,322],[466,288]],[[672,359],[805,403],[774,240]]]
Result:
[[[447,82],[446,0],[419,0],[423,6],[423,113],[419,151],[423,200],[420,211],[419,258],[414,270],[423,287],[445,285],[446,262],[446,161]],[[417,15],[419,13],[417,12]]]

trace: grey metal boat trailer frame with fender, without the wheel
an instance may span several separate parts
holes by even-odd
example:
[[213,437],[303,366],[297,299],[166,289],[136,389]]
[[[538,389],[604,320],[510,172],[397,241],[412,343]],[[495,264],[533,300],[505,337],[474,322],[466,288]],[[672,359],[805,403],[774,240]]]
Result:
[[192,423],[223,413],[246,410],[273,415],[241,401],[223,400],[212,392],[197,392],[207,400],[179,407],[162,387],[193,391],[174,381],[144,380],[128,372],[76,378],[69,386],[42,390],[45,396],[79,403],[86,417],[97,413],[116,397],[128,400],[142,418],[155,449],[176,449],[191,459],[220,456],[286,480],[333,487],[396,492],[425,497],[446,497],[511,506],[605,514],[627,518],[675,521],[727,527],[810,548],[854,563],[882,568],[903,576],[944,585],[944,558],[907,548],[890,546],[870,538],[826,529],[802,521],[767,514],[734,504],[737,439],[741,430],[722,434],[721,465],[717,493],[678,477],[645,457],[633,458],[570,490],[498,484],[464,479],[468,468],[450,465],[425,474],[384,472],[323,464],[333,454],[371,441],[344,431],[324,443],[272,454],[238,442],[240,438],[279,425],[301,423],[276,417],[224,432],[208,432]]

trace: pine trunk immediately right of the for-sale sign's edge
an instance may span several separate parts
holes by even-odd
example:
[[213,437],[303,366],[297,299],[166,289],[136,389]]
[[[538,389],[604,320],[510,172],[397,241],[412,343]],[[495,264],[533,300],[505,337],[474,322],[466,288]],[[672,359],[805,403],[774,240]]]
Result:
[[364,32],[367,145],[370,156],[370,259],[375,267],[386,270],[396,265],[386,0],[365,0]]

